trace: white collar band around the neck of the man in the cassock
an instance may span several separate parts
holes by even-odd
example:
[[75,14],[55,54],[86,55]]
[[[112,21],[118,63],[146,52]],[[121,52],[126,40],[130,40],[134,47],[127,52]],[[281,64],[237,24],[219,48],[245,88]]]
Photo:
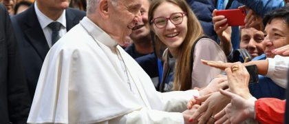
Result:
[[118,43],[112,39],[109,34],[99,28],[98,25],[96,25],[87,17],[84,17],[80,23],[83,25],[83,28],[85,28],[87,32],[98,42],[107,45],[109,48],[115,48],[116,45],[118,45]]

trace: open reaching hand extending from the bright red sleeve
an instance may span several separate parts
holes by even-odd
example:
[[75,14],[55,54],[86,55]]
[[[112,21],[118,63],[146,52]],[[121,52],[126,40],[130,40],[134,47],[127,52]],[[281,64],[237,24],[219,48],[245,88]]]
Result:
[[221,123],[242,123],[247,118],[254,118],[255,115],[255,102],[247,101],[237,94],[220,90],[221,94],[231,99],[221,112],[217,113],[214,117],[217,119],[216,124]]

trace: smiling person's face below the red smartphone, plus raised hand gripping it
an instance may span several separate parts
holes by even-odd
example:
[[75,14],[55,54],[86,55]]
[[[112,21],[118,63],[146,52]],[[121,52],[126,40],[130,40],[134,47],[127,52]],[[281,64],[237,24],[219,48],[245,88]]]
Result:
[[[214,30],[220,38],[222,50],[224,50],[226,56],[228,56],[228,60],[230,60],[233,57],[233,47],[231,43],[232,29],[231,26],[228,26],[228,23],[226,23],[227,19],[222,15],[217,16],[216,11],[217,10],[213,11]],[[239,48],[248,50],[252,58],[264,54],[262,45],[264,33],[263,30],[261,30],[261,25],[263,25],[263,23],[259,23],[255,25],[255,27],[239,29]]]

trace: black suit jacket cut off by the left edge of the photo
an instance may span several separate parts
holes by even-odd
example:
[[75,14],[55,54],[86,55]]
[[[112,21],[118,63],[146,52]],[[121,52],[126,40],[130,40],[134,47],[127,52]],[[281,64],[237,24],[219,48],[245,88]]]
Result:
[[0,123],[26,123],[30,96],[10,16],[0,4]]

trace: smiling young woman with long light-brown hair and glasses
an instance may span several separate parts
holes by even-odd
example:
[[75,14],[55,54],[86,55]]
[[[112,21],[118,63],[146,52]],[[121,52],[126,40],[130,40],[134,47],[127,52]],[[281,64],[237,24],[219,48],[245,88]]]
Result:
[[156,52],[160,51],[159,46],[168,47],[164,52],[160,91],[205,87],[221,73],[201,62],[201,59],[226,61],[226,56],[215,41],[203,37],[202,26],[186,1],[152,1],[149,22],[156,34]]

